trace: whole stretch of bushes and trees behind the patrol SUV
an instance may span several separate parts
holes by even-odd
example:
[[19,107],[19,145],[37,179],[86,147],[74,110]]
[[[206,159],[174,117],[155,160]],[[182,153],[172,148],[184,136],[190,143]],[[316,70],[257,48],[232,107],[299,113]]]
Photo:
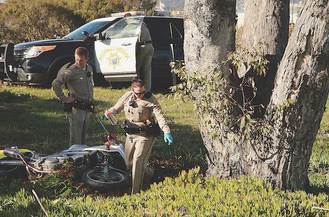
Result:
[[65,35],[84,23],[113,12],[151,13],[153,0],[9,0],[0,8],[0,43],[20,43]]

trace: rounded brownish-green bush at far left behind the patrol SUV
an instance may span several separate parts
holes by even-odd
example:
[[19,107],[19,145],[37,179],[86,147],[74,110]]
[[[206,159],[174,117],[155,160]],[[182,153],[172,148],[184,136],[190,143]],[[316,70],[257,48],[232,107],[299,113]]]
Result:
[[11,0],[1,6],[0,42],[20,43],[66,34],[84,23],[63,0]]

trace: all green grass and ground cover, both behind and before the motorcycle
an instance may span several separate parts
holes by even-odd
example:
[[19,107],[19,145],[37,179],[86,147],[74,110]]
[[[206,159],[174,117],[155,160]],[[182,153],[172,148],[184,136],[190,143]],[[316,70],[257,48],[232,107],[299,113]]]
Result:
[[[124,141],[124,133],[119,125],[112,126],[105,120],[103,112],[113,106],[125,91],[127,89],[95,88],[99,117],[121,141]],[[161,93],[155,95],[169,122],[174,145],[168,146],[162,136],[159,137],[151,153],[151,164],[172,167],[174,177],[149,188],[145,186],[144,191],[135,195],[126,194],[129,192],[127,189],[106,195],[86,194],[86,189],[72,187],[77,186],[78,181],[66,176],[65,179],[56,176],[34,183],[8,183],[8,180],[3,180],[0,181],[0,216],[43,216],[32,189],[39,193],[51,216],[329,215],[329,211],[312,208],[329,208],[328,111],[324,113],[309,161],[308,176],[314,193],[288,192],[273,189],[270,183],[255,177],[229,180],[204,177],[199,170],[206,168],[206,149],[192,103],[168,100]],[[62,118],[66,114],[51,89],[0,86],[0,102],[0,149],[18,146],[50,154],[68,147],[69,124]],[[124,113],[118,114],[117,119],[121,123]],[[99,145],[99,135],[104,134],[104,130],[95,117],[88,132],[87,145]],[[184,172],[184,169],[195,166],[201,169]],[[176,177],[180,170],[183,172]],[[54,181],[55,178],[57,181]]]

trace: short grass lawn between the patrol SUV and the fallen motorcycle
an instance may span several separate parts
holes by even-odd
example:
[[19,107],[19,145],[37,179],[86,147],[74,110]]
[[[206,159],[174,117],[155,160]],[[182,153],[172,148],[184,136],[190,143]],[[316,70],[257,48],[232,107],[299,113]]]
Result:
[[[126,91],[127,89],[95,88],[94,93],[98,116],[106,129],[114,132],[121,141],[125,140],[125,134],[120,129],[120,124],[112,126],[103,113],[106,108],[115,105]],[[175,146],[167,146],[161,136],[155,144],[153,155],[204,155],[206,149],[193,116],[191,103],[168,100],[160,93],[155,95],[165,111]],[[63,119],[67,113],[63,112],[62,103],[51,89],[0,86],[0,100],[0,148],[18,146],[50,154],[68,147],[69,123]],[[123,122],[123,111],[117,115],[117,119],[118,123]],[[92,117],[87,145],[99,145],[100,134],[105,134],[105,131],[96,117]]]

